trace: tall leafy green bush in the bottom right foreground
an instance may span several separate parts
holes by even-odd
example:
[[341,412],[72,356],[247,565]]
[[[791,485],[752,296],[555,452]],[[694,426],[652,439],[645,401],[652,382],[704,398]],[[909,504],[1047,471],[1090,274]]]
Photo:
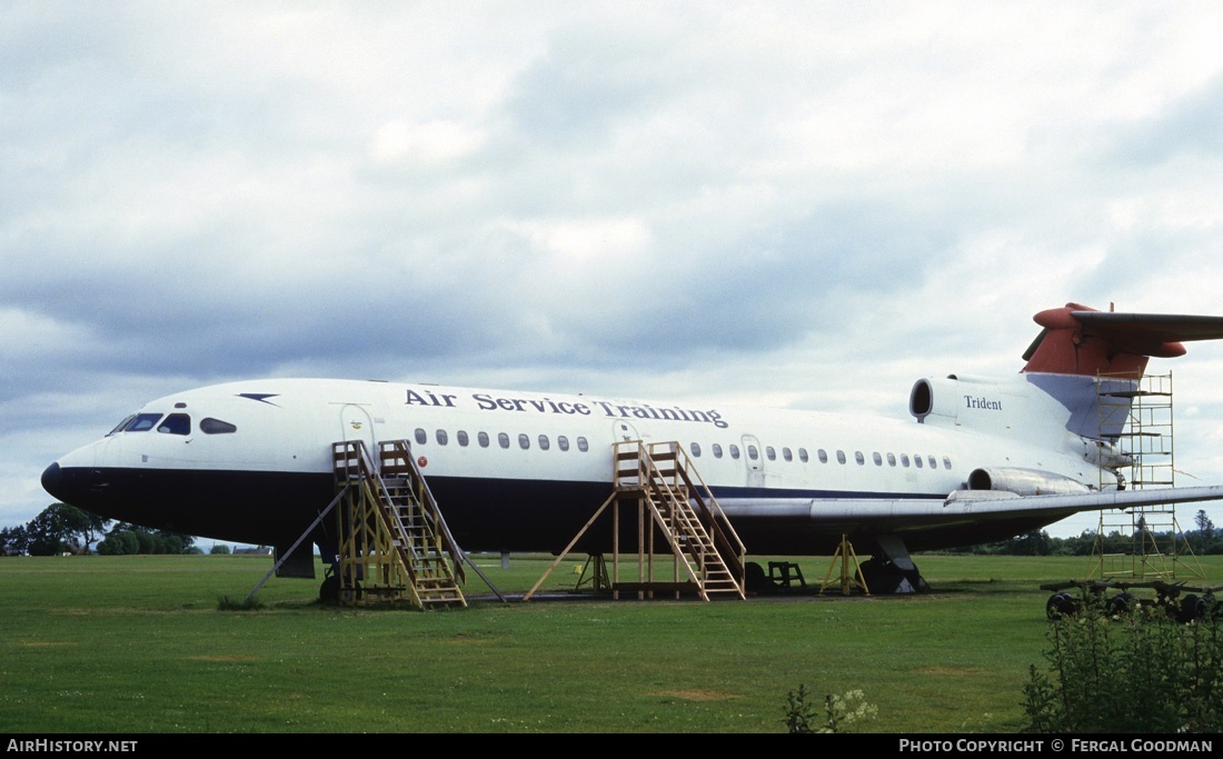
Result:
[[1025,732],[1223,730],[1223,625],[1213,599],[1179,622],[1159,607],[1118,612],[1102,598],[1049,622],[1048,670],[1024,687]]

